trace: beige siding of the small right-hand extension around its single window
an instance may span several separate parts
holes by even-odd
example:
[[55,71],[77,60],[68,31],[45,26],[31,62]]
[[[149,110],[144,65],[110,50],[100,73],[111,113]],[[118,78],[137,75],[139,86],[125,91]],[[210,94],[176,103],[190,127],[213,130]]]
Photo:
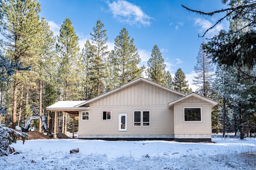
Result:
[[[195,98],[196,99],[196,98]],[[187,99],[186,99],[187,100]],[[190,99],[188,98],[188,101]],[[201,107],[201,121],[184,121],[184,107]],[[174,134],[211,134],[211,107],[208,102],[200,102],[200,99],[193,100],[192,103],[174,104]],[[191,135],[190,137],[191,138]]]

